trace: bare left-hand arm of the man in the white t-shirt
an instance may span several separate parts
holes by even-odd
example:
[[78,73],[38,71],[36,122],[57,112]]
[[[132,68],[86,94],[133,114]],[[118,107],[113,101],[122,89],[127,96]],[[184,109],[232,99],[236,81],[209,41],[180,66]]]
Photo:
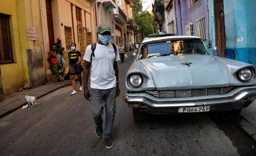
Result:
[[89,100],[90,98],[90,91],[87,85],[89,75],[90,75],[90,62],[85,61],[85,66],[83,68],[83,88],[84,88],[83,95],[85,96],[86,100]]

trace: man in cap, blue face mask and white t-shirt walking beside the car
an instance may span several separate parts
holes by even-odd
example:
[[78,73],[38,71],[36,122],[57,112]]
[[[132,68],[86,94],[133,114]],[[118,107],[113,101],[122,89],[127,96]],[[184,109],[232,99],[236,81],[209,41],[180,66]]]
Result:
[[[111,40],[111,29],[106,24],[97,29],[99,41],[87,46],[85,56],[85,67],[83,70],[84,96],[90,101],[94,123],[96,124],[96,136],[104,139],[107,148],[113,147],[111,132],[115,117],[115,98],[120,94],[118,86],[118,66],[120,55],[117,46],[109,42]],[[90,70],[91,69],[91,70]],[[90,88],[87,81],[90,76]],[[103,131],[102,115],[105,108],[106,121]]]

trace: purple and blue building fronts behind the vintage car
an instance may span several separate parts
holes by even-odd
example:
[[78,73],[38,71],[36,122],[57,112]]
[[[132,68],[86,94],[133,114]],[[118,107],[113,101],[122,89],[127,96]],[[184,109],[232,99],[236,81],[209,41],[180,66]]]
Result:
[[[205,42],[210,54],[256,65],[254,35],[256,1],[168,0],[163,2],[165,5],[164,3],[162,5],[166,10],[162,20],[163,23],[165,22],[163,31],[169,33],[172,29],[177,35],[199,36]],[[170,24],[171,22],[175,23]],[[215,46],[219,48],[218,54],[213,51]]]

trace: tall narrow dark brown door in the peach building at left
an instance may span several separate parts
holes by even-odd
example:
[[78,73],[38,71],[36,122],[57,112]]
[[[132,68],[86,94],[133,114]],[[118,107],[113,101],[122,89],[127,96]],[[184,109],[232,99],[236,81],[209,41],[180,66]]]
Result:
[[50,49],[54,45],[54,30],[52,22],[52,9],[51,9],[51,0],[45,0],[46,5],[46,14],[47,14],[47,27],[48,27],[48,37],[49,37],[49,46]]

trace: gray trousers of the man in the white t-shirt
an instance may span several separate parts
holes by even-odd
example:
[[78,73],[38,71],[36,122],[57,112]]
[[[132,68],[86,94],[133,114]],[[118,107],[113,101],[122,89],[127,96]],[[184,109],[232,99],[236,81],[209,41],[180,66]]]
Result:
[[106,121],[103,130],[103,139],[111,136],[115,118],[115,96],[116,87],[107,90],[97,90],[91,88],[92,100],[90,102],[94,123],[97,127],[102,127],[102,115],[105,108]]

